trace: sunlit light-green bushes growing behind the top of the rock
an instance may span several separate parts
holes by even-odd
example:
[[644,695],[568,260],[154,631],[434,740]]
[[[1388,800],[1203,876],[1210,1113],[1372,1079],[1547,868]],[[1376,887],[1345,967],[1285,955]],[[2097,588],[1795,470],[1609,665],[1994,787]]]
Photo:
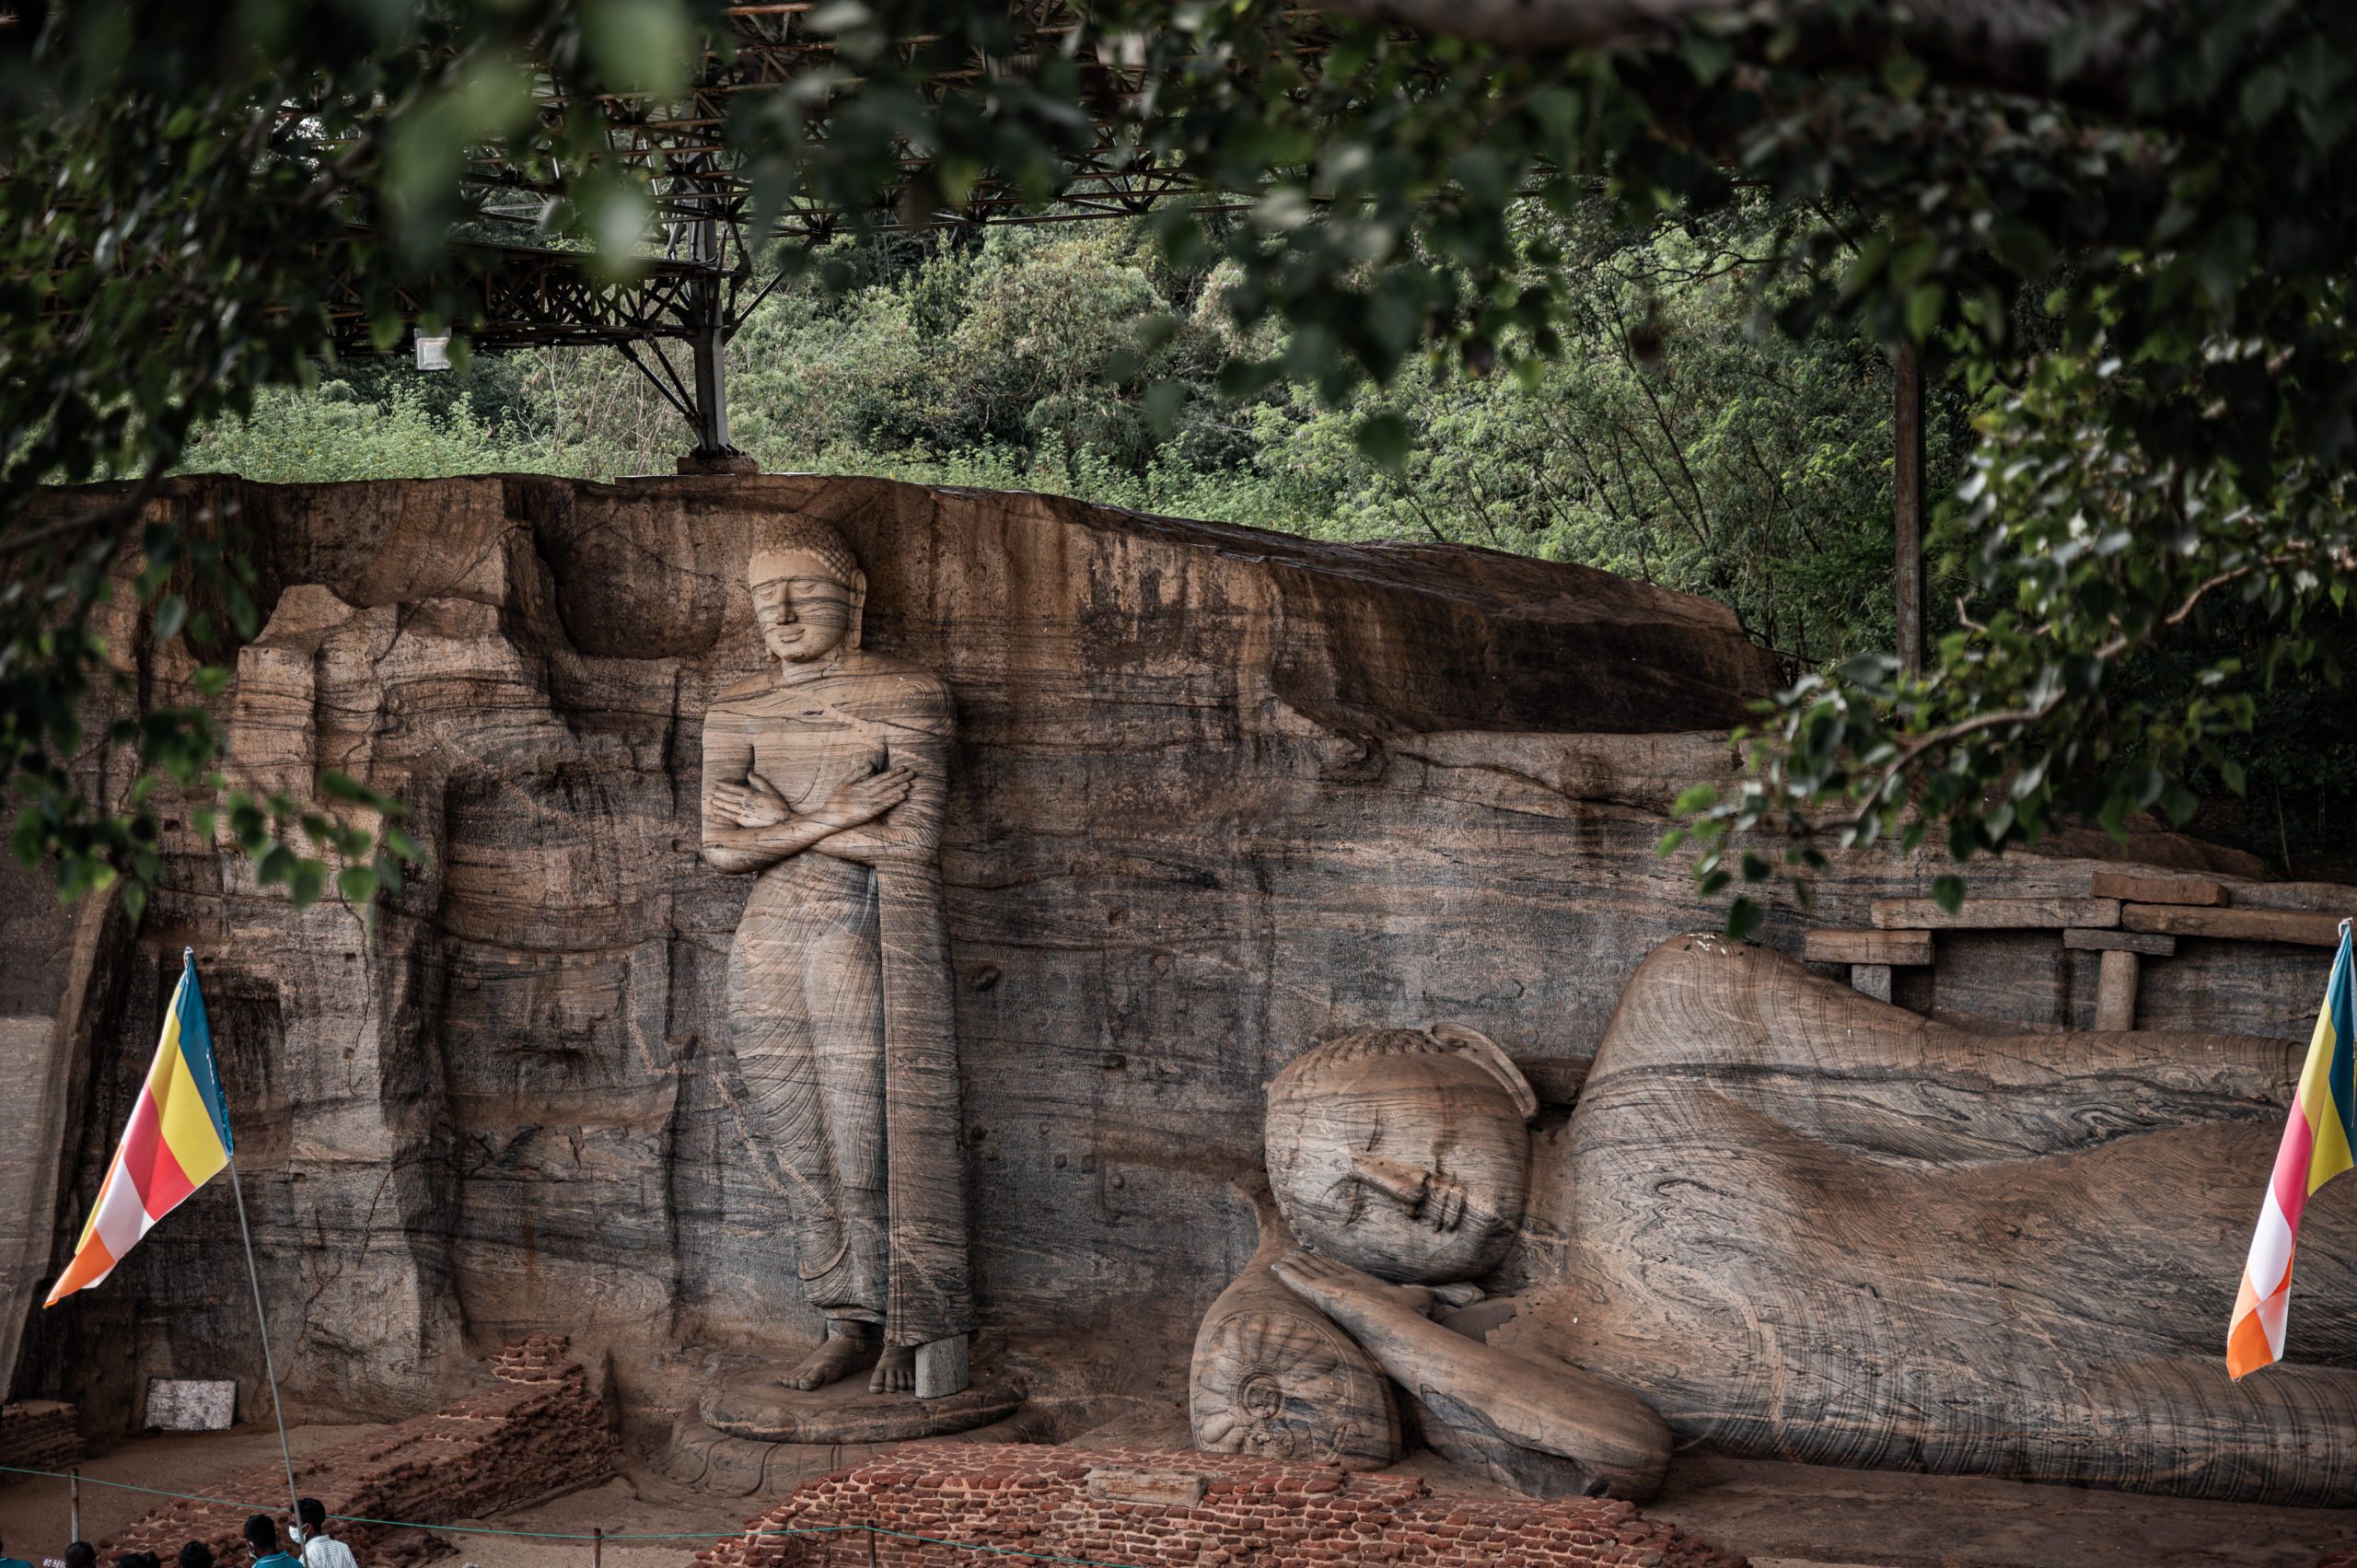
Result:
[[[1796,667],[1888,648],[1881,349],[1834,325],[1803,342],[1756,328],[1737,278],[1756,215],[1728,233],[1591,229],[1553,363],[1468,377],[1419,361],[1332,408],[1289,382],[1223,394],[1219,368],[1282,351],[1282,328],[1235,328],[1221,299],[1233,269],[1171,269],[1138,224],[844,245],[856,283],[787,285],[731,344],[733,436],[771,472],[1039,488],[1582,561],[1716,597]],[[1169,325],[1141,330],[1157,321]],[[676,415],[610,351],[344,375],[207,427],[189,467],[610,476],[658,472],[681,443]],[[1178,396],[1157,417],[1167,391]],[[1933,467],[1954,474],[1961,398],[1935,408]],[[1398,462],[1360,446],[1369,417],[1409,431]]]

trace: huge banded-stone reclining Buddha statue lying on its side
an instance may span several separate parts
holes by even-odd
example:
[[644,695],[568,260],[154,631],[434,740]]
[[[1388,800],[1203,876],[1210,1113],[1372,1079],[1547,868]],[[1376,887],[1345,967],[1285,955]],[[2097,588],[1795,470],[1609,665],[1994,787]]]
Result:
[[[1417,1238],[1419,1217],[1497,1219],[1499,1200],[1480,1203],[1494,1177],[1447,1137],[1409,1148],[1402,1132],[1466,1118],[1400,1096],[1348,1179],[1322,1151],[1306,1217],[1273,1115],[1270,1181],[1299,1236],[1256,1266],[1346,1330],[1433,1448],[1523,1490],[1640,1497],[1673,1434],[1815,1464],[2345,1507],[2345,1195],[2308,1210],[2286,1363],[2237,1384],[2223,1358],[2298,1061],[2291,1040],[1949,1028],[1765,948],[1681,936],[1624,988],[1570,1122],[1534,1139],[1527,1198],[1504,1200],[1520,1200],[1511,1254],[1447,1259],[1485,1273],[1440,1280],[1334,1243],[1334,1217],[1343,1236],[1379,1224],[1362,1231],[1384,1238],[1374,1252]],[[1348,1113],[1327,1122],[1367,1139]],[[1501,1294],[1466,1304],[1483,1280]],[[1292,1391],[1294,1429],[1315,1429],[1318,1391]],[[1197,1398],[1197,1441],[1202,1415]]]

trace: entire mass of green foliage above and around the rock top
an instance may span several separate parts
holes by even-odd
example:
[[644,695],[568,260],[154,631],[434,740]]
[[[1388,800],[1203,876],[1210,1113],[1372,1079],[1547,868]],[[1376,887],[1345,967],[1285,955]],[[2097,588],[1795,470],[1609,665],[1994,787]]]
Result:
[[[1968,858],[2138,811],[2310,872],[2350,858],[2343,7],[1240,0],[1089,7],[1054,52],[938,0],[806,26],[837,64],[721,132],[759,200],[846,215],[766,250],[785,285],[733,344],[766,465],[1450,538],[1718,597],[1794,681],[1747,785],[1685,802],[1711,891],[1805,884],[1886,832]],[[141,486],[679,448],[603,351],[427,382],[325,363],[323,299],[358,281],[396,342],[394,290],[464,264],[486,146],[547,191],[544,243],[629,266],[643,179],[580,106],[676,94],[717,28],[686,0],[0,12],[19,856],[68,894],[137,898],[153,870],[146,797],[101,811],[66,773],[127,552],[160,634],[226,660],[252,632],[236,552],[141,526]],[[1115,59],[1136,92],[1105,90]],[[882,231],[981,179],[1054,215],[1105,127],[1200,200]],[[1900,349],[1928,368],[1940,498],[1921,677],[1888,653]],[[24,523],[33,486],[106,476],[130,488],[75,528]],[[219,750],[196,710],[106,740],[189,790]],[[339,870],[365,901],[405,854],[368,816],[219,806],[299,896]],[[1730,924],[1754,917],[1737,896]]]

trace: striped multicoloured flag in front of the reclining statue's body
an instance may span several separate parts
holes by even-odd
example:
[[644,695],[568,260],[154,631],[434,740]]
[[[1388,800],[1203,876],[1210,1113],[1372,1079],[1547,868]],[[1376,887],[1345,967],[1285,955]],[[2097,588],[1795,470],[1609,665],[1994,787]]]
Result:
[[2300,1233],[2308,1195],[2350,1167],[2357,1141],[2357,974],[2350,964],[2350,922],[2341,922],[2341,955],[2324,986],[2324,1012],[2308,1042],[2308,1066],[2291,1096],[2291,1120],[2275,1151],[2275,1177],[2258,1205],[2258,1236],[2242,1266],[2242,1294],[2225,1332],[2225,1370],[2234,1377],[2284,1358],[2284,1313],[2291,1309],[2291,1243]]

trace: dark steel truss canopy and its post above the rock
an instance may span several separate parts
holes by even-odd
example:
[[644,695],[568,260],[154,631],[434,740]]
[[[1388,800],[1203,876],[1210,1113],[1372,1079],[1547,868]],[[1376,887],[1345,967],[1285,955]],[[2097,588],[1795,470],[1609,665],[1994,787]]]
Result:
[[[976,57],[945,68],[931,78],[933,90],[952,92],[985,73],[1021,68],[1025,57],[1072,50],[1080,14],[1063,0],[1011,0],[1011,5],[1018,52],[1006,61]],[[474,311],[474,321],[462,323],[469,342],[478,349],[613,344],[688,420],[695,431],[693,457],[731,460],[738,453],[728,443],[721,349],[768,292],[754,281],[752,269],[752,257],[766,243],[780,238],[816,243],[853,226],[936,231],[1131,217],[1176,196],[1200,196],[1193,179],[1157,167],[1127,146],[1117,123],[1101,113],[1087,151],[1068,160],[1049,207],[1039,207],[1035,196],[995,177],[978,179],[955,205],[940,205],[938,196],[915,205],[922,200],[917,193],[933,191],[933,184],[919,179],[929,158],[919,149],[907,149],[903,167],[910,182],[889,205],[853,215],[811,196],[790,196],[764,233],[750,233],[754,193],[721,127],[731,106],[745,94],[787,92],[813,71],[832,66],[832,38],[811,26],[816,9],[820,0],[731,5],[721,12],[724,38],[705,40],[702,59],[681,97],[601,97],[596,111],[603,123],[603,153],[613,165],[646,177],[662,255],[648,259],[629,281],[601,281],[580,252],[474,245],[457,285]],[[1141,87],[1134,68],[1103,59],[1087,64],[1105,73],[1108,104],[1124,101]],[[542,116],[552,120],[570,108],[554,92],[540,99]],[[825,137],[823,111],[811,116],[806,134]],[[469,205],[495,229],[535,224],[559,193],[559,186],[500,160],[476,163],[464,184]],[[408,321],[427,311],[427,292],[398,299]],[[384,351],[370,332],[358,297],[332,304],[330,316],[339,351]],[[688,344],[693,375],[679,375],[653,347],[662,340]]]

